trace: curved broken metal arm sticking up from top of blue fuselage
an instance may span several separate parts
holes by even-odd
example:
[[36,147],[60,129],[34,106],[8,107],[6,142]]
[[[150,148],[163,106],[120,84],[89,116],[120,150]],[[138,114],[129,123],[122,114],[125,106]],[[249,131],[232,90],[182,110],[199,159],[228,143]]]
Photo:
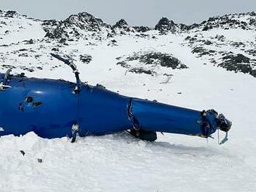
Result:
[[59,56],[57,54],[54,54],[54,53],[50,53],[50,55],[52,57],[56,58],[57,60],[61,60],[63,63],[65,63],[69,67],[71,67],[71,69],[73,70],[73,73],[75,75],[75,79],[76,79],[76,86],[74,87],[74,93],[78,94],[79,91],[81,90],[81,81],[80,81],[78,69],[75,66],[75,64],[73,63],[73,61],[71,60],[71,58],[64,59],[63,57],[61,57],[61,56]]

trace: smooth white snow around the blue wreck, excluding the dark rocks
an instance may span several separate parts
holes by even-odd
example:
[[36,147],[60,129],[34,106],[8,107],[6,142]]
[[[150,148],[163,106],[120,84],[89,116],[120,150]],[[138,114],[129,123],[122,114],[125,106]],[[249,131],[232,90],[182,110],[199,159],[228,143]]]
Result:
[[[23,19],[22,22],[28,21]],[[68,67],[50,59],[49,53],[57,42],[17,43],[21,39],[43,38],[39,22],[31,29],[25,27],[27,36],[12,33],[12,42],[16,44],[0,46],[1,64],[16,66],[13,73],[23,72],[19,66],[40,66],[43,70],[26,71],[26,76],[74,81],[74,74]],[[218,33],[223,33],[224,30],[220,30]],[[211,32],[204,36],[216,36],[215,29]],[[81,80],[88,84],[99,83],[119,94],[156,99],[185,108],[214,108],[223,112],[233,122],[229,141],[218,145],[217,133],[213,135],[215,139],[158,134],[156,142],[144,142],[127,132],[120,132],[78,138],[75,143],[67,138],[41,139],[32,132],[20,137],[7,135],[0,139],[1,192],[255,191],[256,78],[214,67],[207,58],[196,57],[185,43],[188,34],[159,36],[156,31],[147,34],[149,37],[146,38],[129,34],[114,36],[111,39],[116,39],[118,46],[107,46],[111,39],[81,39],[58,48],[60,52],[74,56]],[[229,33],[225,30],[225,37],[230,36],[230,40],[248,34],[251,40],[256,35],[255,31],[245,33],[232,29]],[[151,36],[157,36],[157,39]],[[9,41],[8,38],[11,37],[1,39],[0,44]],[[19,57],[19,53],[13,52],[22,48],[36,53],[28,51],[29,57]],[[157,76],[150,76],[126,73],[125,68],[116,65],[116,57],[140,51],[171,53],[189,69],[159,67],[155,69]],[[91,63],[79,61],[78,56],[84,53],[92,56]],[[38,59],[34,57],[37,54],[40,55]],[[0,67],[0,71],[5,70]],[[173,75],[167,84],[162,83],[167,79],[163,72]],[[220,137],[223,138],[221,132]],[[25,152],[24,156],[20,150]],[[42,163],[38,159],[42,159]]]

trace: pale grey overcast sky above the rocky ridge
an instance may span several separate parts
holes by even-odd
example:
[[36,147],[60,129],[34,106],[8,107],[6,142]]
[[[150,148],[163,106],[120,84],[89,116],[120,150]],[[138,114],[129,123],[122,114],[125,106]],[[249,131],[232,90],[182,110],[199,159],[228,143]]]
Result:
[[65,19],[88,12],[113,24],[154,26],[161,17],[192,24],[211,15],[256,11],[256,0],[0,0],[0,9],[16,10],[36,19]]

